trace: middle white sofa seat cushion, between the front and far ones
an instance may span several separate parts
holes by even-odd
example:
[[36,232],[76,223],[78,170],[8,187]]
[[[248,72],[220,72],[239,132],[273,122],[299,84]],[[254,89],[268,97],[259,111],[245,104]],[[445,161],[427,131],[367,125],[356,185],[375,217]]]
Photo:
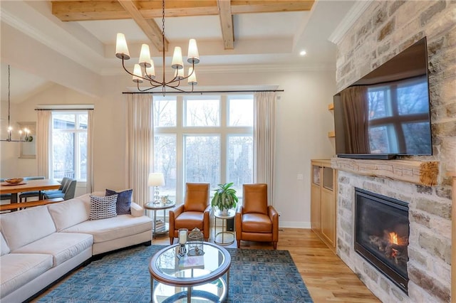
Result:
[[57,266],[90,248],[92,244],[92,235],[84,233],[53,233],[11,252],[52,255],[53,266]]

